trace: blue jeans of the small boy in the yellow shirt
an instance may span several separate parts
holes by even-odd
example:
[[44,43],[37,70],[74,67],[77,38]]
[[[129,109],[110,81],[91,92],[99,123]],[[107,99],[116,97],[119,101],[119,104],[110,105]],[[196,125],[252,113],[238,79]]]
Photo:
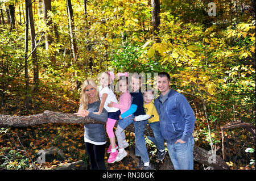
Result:
[[150,128],[154,133],[154,137],[148,136],[148,139],[152,141],[158,150],[164,150],[164,138],[160,132],[160,123],[159,121],[149,123]]

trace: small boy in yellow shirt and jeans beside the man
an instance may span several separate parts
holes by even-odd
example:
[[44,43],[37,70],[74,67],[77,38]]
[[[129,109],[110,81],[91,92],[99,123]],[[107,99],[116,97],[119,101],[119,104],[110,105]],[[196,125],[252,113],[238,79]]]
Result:
[[152,129],[155,137],[148,136],[158,149],[156,156],[157,159],[162,161],[164,156],[166,155],[166,151],[164,150],[164,138],[160,132],[160,123],[159,123],[159,115],[156,111],[155,105],[153,103],[154,100],[154,91],[147,89],[143,92],[143,101],[144,101],[144,111],[146,115],[139,115],[134,117],[134,121],[142,121],[148,119],[148,124]]

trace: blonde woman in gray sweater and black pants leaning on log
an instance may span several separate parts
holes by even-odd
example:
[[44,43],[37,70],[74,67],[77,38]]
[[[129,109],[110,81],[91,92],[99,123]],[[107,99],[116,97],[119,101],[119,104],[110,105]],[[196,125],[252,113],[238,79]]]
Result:
[[[100,96],[96,82],[87,79],[82,84],[81,99],[77,116],[90,117],[94,120],[106,123],[108,112],[103,109],[98,115],[100,108]],[[86,153],[89,155],[92,170],[106,170],[105,165],[105,144],[106,133],[104,124],[84,124],[84,141]]]

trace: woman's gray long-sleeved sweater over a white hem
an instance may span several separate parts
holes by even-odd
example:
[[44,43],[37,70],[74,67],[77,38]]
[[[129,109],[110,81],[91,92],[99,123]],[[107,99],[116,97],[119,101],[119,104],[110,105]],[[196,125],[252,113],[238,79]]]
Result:
[[[81,105],[79,107],[79,110]],[[108,120],[108,112],[103,109],[100,115],[96,115],[93,112],[98,112],[100,108],[100,101],[94,102],[92,104],[88,104],[87,110],[89,111],[89,117],[106,123]],[[104,128],[104,124],[84,124],[84,137],[88,140],[95,141],[95,142],[104,142],[106,141],[106,132]]]

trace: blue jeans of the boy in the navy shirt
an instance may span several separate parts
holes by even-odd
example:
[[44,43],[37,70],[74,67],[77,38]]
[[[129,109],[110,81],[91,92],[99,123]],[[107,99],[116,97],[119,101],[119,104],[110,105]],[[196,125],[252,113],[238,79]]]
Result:
[[143,163],[149,162],[150,159],[147,153],[146,141],[144,138],[144,129],[147,125],[147,120],[145,121],[133,121],[134,133],[135,133],[135,155],[141,156]]

